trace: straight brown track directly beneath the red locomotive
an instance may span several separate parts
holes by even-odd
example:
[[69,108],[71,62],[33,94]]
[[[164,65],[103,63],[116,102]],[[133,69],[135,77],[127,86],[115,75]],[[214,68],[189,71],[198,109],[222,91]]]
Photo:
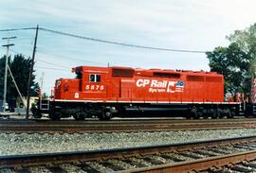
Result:
[[75,133],[256,128],[256,119],[139,119],[111,121],[2,120],[0,132]]

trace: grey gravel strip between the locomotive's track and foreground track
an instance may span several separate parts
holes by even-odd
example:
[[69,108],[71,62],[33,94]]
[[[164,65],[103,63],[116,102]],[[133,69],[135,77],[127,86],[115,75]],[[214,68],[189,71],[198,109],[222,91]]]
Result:
[[256,130],[180,130],[83,134],[0,133],[0,155],[141,147],[248,135],[256,135]]

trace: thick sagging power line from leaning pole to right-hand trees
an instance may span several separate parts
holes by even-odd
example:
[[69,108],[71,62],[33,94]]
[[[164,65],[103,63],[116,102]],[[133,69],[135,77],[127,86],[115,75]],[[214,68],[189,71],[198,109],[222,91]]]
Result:
[[118,45],[123,45],[123,46],[143,48],[143,49],[152,49],[152,50],[159,50],[159,51],[171,51],[171,52],[183,52],[183,53],[203,53],[203,54],[206,53],[206,51],[200,51],[200,50],[171,49],[171,48],[153,47],[153,46],[138,45],[138,44],[131,44],[131,43],[119,43],[119,42],[114,42],[114,41],[107,41],[107,40],[86,37],[86,36],[80,36],[80,35],[76,35],[76,34],[72,34],[72,33],[48,29],[45,27],[40,27],[39,29],[47,31],[47,32],[55,33],[55,34],[60,34],[60,35],[64,35],[64,36],[79,38],[79,39],[88,40],[88,41],[92,41],[92,42],[98,42],[98,43],[111,43],[111,44],[118,44]]

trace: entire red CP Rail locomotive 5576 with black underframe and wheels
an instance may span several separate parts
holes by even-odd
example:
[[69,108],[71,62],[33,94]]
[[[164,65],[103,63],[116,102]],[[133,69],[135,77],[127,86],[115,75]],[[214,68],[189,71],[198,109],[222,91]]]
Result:
[[55,82],[48,107],[33,110],[35,117],[48,112],[52,120],[114,116],[185,116],[232,118],[245,112],[240,97],[224,101],[224,78],[215,72],[79,66],[76,78]]

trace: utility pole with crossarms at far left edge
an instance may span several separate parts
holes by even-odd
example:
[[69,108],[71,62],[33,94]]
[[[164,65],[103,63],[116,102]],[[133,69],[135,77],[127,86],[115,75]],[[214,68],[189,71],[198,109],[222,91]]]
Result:
[[17,37],[5,37],[3,40],[7,40],[7,44],[2,45],[3,47],[7,47],[7,55],[6,55],[6,67],[5,67],[5,81],[4,81],[4,98],[3,98],[3,112],[6,112],[6,103],[7,103],[7,76],[8,76],[8,61],[9,61],[9,46],[14,45],[14,43],[9,43],[10,39],[15,39]]

